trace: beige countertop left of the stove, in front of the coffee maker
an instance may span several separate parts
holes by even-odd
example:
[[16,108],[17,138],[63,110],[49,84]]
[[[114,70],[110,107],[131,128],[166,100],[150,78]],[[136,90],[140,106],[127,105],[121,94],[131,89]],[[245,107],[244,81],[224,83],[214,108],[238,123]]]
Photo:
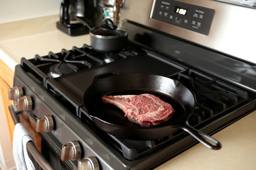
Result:
[[56,28],[58,20],[56,15],[0,24],[0,59],[14,70],[21,57],[29,59],[90,44],[89,35],[71,37],[62,33]]

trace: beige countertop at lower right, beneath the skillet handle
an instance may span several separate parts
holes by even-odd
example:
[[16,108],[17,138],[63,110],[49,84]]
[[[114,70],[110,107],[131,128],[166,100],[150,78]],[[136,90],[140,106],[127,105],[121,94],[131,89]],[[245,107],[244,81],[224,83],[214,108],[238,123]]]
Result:
[[156,170],[256,169],[256,111],[213,135],[223,147],[210,150],[198,144]]

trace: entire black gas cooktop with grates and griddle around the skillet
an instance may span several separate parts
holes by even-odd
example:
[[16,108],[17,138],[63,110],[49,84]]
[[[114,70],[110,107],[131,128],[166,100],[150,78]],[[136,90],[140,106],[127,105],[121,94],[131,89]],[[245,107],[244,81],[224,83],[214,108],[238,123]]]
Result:
[[[255,109],[255,94],[250,91],[137,45],[129,45],[117,54],[101,54],[84,45],[57,54],[50,52],[43,57],[37,55],[31,60],[23,58],[21,66],[82,123],[92,123],[82,103],[85,91],[95,76],[110,72],[159,74],[181,81],[196,95],[196,108],[188,123],[207,134],[217,132]],[[92,129],[102,135],[97,127],[92,125]],[[124,159],[132,160],[129,164],[149,164],[151,167],[196,144],[196,140],[182,130],[168,137],[146,141],[118,139],[111,135],[107,138],[107,145]]]

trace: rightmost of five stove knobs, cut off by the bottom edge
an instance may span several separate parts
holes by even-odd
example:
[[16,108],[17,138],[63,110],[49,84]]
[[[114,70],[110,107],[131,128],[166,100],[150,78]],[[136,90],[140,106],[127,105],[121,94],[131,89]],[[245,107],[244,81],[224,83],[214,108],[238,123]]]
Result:
[[99,162],[95,157],[85,157],[85,159],[78,160],[78,170],[100,170]]

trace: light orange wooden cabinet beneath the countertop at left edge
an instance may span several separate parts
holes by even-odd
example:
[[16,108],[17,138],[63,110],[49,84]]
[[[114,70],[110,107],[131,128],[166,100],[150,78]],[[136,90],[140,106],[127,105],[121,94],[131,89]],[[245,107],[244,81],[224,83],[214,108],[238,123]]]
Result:
[[[7,126],[9,130],[9,135],[12,141],[14,135],[14,121],[9,113],[9,105],[13,105],[13,101],[9,101],[9,88],[14,84],[14,72],[2,61],[0,60],[0,102],[4,106],[4,115],[7,121]],[[1,118],[1,119],[5,119]]]

